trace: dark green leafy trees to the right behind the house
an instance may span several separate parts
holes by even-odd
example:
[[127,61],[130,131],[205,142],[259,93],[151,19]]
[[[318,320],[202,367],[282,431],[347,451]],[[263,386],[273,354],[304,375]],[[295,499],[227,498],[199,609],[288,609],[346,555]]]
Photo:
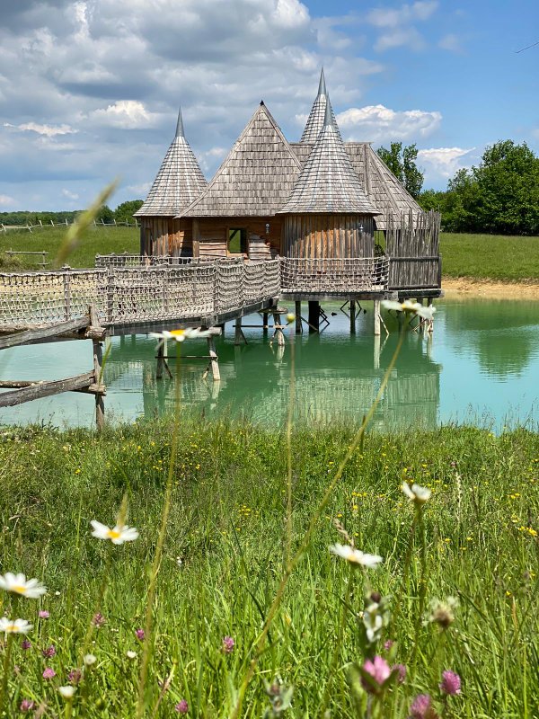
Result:
[[526,143],[488,146],[480,164],[459,170],[443,191],[421,191],[415,145],[377,152],[423,209],[441,213],[446,232],[539,235],[539,157]]

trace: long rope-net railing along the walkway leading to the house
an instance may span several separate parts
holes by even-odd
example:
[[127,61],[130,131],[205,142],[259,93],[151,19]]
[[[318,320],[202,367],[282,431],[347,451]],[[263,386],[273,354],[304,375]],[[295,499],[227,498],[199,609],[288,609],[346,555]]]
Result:
[[52,324],[97,307],[103,324],[211,318],[278,297],[278,260],[0,274],[0,326]]

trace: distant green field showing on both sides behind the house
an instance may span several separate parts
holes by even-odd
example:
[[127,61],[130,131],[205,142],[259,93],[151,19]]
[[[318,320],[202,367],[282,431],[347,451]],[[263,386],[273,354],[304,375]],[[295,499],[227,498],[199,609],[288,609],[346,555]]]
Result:
[[[0,271],[38,269],[35,262],[40,258],[8,259],[5,250],[46,250],[49,261],[54,260],[65,234],[66,229],[59,226],[34,230],[31,234],[0,233]],[[92,228],[68,263],[72,267],[93,267],[96,254],[138,253],[138,238],[135,227]],[[539,280],[539,237],[442,233],[440,247],[446,277],[506,282]]]

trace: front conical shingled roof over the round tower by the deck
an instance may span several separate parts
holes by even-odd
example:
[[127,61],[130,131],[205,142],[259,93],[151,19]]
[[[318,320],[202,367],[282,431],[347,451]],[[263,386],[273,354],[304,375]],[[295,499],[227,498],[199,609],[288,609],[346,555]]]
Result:
[[378,214],[350,163],[329,99],[323,129],[287,203],[279,209],[279,214],[305,212]]

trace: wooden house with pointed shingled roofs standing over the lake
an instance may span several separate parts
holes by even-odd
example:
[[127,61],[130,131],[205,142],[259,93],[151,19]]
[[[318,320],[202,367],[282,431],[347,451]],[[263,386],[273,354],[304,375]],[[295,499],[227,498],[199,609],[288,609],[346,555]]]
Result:
[[439,288],[437,216],[421,212],[369,143],[342,141],[323,74],[299,143],[287,142],[261,102],[209,183],[180,116],[176,138],[136,214],[143,254],[262,259],[278,253],[290,258],[288,271],[303,273],[307,283],[328,271],[321,261],[361,260],[367,262],[363,274],[349,263],[332,265],[328,277],[332,281],[337,272],[372,291],[388,287],[386,270],[371,281],[381,266],[375,232],[382,230],[393,262],[389,288]]

